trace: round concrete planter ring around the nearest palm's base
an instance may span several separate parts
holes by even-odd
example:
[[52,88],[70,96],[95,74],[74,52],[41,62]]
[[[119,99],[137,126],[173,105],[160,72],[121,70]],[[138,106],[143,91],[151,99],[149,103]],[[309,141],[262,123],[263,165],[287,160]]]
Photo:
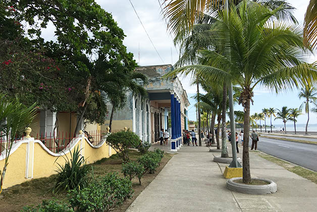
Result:
[[264,181],[267,185],[246,185],[242,183],[236,183],[235,180],[240,180],[242,177],[231,178],[227,181],[227,188],[232,191],[236,191],[244,194],[272,194],[277,192],[277,185],[272,180],[252,178],[252,180]]

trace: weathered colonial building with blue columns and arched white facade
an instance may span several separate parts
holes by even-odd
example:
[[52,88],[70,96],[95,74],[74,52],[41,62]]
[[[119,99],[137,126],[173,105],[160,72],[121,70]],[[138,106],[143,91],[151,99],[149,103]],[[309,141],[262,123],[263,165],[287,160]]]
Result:
[[[173,70],[172,65],[142,66],[136,69],[148,77],[146,97],[128,93],[128,102],[113,116],[112,130],[130,128],[143,142],[157,142],[160,130],[167,129],[171,136],[171,150],[181,146],[182,129],[188,129],[186,91],[178,79],[163,76]],[[109,105],[111,111],[111,105]],[[109,125],[109,120],[105,123]]]

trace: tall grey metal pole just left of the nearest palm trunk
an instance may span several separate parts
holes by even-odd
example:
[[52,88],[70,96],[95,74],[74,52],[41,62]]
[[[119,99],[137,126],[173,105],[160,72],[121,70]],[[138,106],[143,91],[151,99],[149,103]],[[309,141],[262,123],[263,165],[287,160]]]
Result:
[[[229,0],[225,1],[225,10],[227,15],[229,14]],[[229,52],[230,54],[230,52]],[[233,90],[232,82],[229,84],[229,109],[230,109],[230,130],[231,130],[231,147],[232,147],[232,162],[229,165],[230,168],[242,167],[237,161],[237,149],[236,149],[236,129],[234,120],[234,108],[233,108]]]

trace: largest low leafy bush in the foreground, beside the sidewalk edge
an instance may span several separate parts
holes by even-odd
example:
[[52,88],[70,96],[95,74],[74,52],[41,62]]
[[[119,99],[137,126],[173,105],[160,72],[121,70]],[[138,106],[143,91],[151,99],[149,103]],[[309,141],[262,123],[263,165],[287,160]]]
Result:
[[109,173],[100,181],[95,180],[80,191],[70,191],[68,198],[78,212],[110,211],[130,198],[132,193],[132,182],[128,178],[120,178],[117,173]]

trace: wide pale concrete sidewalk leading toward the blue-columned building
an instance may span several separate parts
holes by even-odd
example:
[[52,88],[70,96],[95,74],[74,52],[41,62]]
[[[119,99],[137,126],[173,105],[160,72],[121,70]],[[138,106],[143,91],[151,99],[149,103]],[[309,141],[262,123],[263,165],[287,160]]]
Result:
[[[153,147],[160,148],[160,144]],[[214,154],[220,156],[220,153]],[[242,158],[241,153],[238,156]],[[226,179],[222,175],[226,165],[213,162],[213,153],[208,152],[207,147],[183,146],[127,211],[317,210],[316,184],[252,152],[250,164],[252,177],[275,181],[277,193],[232,192],[226,188]]]

